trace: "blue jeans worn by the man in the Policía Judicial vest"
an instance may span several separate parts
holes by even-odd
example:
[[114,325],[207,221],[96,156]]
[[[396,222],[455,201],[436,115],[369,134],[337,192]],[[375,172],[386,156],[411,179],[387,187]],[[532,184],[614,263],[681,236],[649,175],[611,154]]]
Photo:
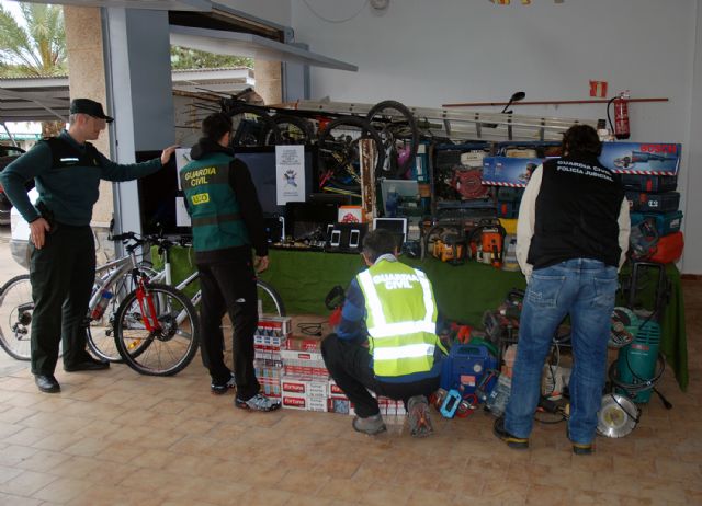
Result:
[[531,434],[544,360],[558,324],[570,314],[574,365],[568,433],[573,442],[592,441],[602,402],[616,279],[615,267],[589,258],[568,260],[532,273],[505,417],[510,434],[524,438]]

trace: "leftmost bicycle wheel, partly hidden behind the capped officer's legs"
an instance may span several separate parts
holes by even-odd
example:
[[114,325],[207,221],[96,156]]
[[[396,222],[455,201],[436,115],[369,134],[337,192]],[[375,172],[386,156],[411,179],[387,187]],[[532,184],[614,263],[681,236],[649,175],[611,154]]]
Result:
[[16,360],[31,358],[33,312],[29,274],[15,276],[0,288],[0,346]]

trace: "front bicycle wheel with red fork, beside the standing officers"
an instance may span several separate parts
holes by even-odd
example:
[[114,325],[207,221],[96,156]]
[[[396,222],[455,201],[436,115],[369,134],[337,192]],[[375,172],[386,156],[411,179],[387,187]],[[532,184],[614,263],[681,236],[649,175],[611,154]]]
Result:
[[[149,326],[155,322],[158,326],[149,331],[147,321]],[[197,352],[195,308],[180,290],[167,285],[148,285],[141,301],[132,291],[115,315],[115,343],[123,360],[137,372],[176,375]]]

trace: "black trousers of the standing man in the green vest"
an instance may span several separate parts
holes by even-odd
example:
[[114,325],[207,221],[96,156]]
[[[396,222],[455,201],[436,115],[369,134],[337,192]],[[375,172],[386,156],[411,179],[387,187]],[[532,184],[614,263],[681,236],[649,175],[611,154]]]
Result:
[[212,381],[225,383],[231,372],[224,363],[222,319],[229,314],[233,332],[234,376],[237,396],[248,401],[259,393],[253,370],[253,334],[259,324],[256,273],[251,261],[199,263],[202,301],[200,346]]

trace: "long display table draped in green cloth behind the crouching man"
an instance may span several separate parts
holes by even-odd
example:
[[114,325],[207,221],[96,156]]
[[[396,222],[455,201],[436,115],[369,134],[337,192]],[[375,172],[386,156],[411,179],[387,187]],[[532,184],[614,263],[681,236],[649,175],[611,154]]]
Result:
[[[270,266],[261,274],[261,279],[275,288],[291,314],[327,315],[329,310],[325,307],[325,297],[329,290],[336,285],[346,289],[351,279],[365,268],[359,254],[271,250],[269,258]],[[171,260],[176,280],[194,269],[189,250],[174,248]],[[408,257],[401,257],[401,261],[427,273],[439,310],[446,319],[477,329],[483,327],[486,310],[496,309],[512,288],[523,289],[526,286],[524,276],[519,272],[499,271],[476,262],[452,266],[433,257],[423,262]],[[666,266],[666,273],[672,290],[661,320],[660,349],[684,391],[689,378],[680,273],[673,264]]]

